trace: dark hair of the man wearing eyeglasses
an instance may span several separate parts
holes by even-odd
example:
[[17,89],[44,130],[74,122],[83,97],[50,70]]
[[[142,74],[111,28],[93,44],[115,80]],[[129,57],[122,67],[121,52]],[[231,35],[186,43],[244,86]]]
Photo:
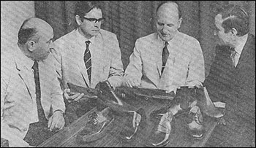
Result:
[[83,21],[83,16],[94,8],[102,9],[99,1],[78,1],[75,8],[75,15],[79,15],[80,19]]

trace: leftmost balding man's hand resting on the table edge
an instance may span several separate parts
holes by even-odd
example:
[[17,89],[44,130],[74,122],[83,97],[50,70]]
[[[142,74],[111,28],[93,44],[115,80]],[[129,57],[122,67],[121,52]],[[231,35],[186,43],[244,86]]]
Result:
[[50,131],[60,131],[65,125],[64,112],[56,110],[53,115],[49,118],[48,128]]

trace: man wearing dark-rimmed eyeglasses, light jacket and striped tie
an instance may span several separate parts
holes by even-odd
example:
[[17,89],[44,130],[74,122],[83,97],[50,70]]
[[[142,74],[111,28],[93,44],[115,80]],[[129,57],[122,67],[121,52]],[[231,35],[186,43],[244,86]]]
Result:
[[116,34],[101,29],[104,20],[97,1],[78,1],[75,10],[78,28],[54,42],[64,96],[78,109],[77,116],[70,115],[69,122],[88,112],[95,104],[80,99],[83,93],[70,93],[67,82],[91,88],[105,80],[112,87],[121,85],[124,73],[121,50]]

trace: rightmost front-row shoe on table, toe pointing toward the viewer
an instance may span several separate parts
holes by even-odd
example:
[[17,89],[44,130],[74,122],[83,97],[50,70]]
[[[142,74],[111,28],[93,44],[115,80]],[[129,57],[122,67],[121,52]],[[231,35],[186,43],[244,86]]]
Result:
[[203,115],[200,112],[200,108],[193,106],[187,117],[189,136],[192,136],[194,139],[202,139],[206,133],[206,129],[203,125]]

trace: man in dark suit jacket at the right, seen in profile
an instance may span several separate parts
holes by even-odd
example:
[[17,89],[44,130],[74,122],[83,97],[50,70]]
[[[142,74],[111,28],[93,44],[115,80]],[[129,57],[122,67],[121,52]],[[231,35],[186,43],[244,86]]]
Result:
[[228,5],[215,17],[215,26],[219,44],[204,85],[213,101],[226,103],[226,125],[217,126],[207,144],[255,147],[255,36],[249,34],[249,16]]

